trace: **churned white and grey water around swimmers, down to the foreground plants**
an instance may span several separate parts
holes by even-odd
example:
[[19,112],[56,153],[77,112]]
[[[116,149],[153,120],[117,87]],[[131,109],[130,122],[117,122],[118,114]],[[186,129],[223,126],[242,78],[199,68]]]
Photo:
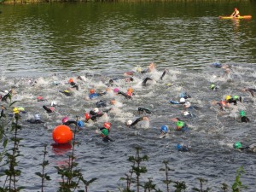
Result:
[[[137,67],[133,70],[136,69]],[[78,117],[84,120],[84,113],[96,108],[96,102],[103,100],[107,102],[107,108],[113,109],[96,122],[85,123],[85,127],[77,135],[78,142],[81,143],[76,147],[77,162],[86,177],[97,177],[100,181],[90,186],[91,191],[117,189],[119,177],[124,177],[125,172],[130,169],[126,159],[127,156],[135,154],[132,147],[136,145],[142,146],[142,153],[150,157],[147,164],[150,171],[147,173],[148,177],[154,177],[155,183],[160,185],[164,177],[158,170],[163,166],[161,164],[163,160],[169,160],[175,169],[176,178],[193,185],[196,177],[206,177],[209,180],[207,186],[216,191],[220,188],[222,179],[225,179],[226,183],[234,181],[235,171],[242,164],[245,165],[247,172],[247,179],[243,183],[255,187],[255,183],[252,182],[255,174],[253,168],[255,154],[238,153],[232,147],[236,141],[244,145],[255,143],[255,97],[241,91],[241,88],[247,86],[255,88],[255,72],[249,70],[250,67],[238,65],[232,66],[228,75],[224,75],[222,69],[213,67],[206,67],[200,72],[167,67],[166,69],[168,72],[163,80],[159,80],[163,69],[158,69],[153,73],[135,73],[133,82],[125,82],[126,76],[123,76],[123,73],[100,75],[86,72],[86,74],[55,74],[35,78],[2,76],[1,90],[10,90],[14,87],[16,94],[13,96],[13,101],[20,101],[17,102],[16,107],[24,107],[27,111],[21,113],[20,120],[23,126],[20,137],[24,138],[22,141],[24,147],[20,147],[20,152],[26,156],[26,162],[20,165],[26,177],[21,175],[20,183],[26,186],[27,191],[39,189],[35,183],[40,181],[39,178],[34,177],[34,172],[39,172],[41,169],[38,165],[42,160],[44,143],[47,143],[49,145],[47,159],[50,162],[47,172],[52,181],[48,182],[45,190],[56,191],[55,181],[58,181],[60,176],[56,174],[54,166],[67,163],[70,148],[50,146],[53,143],[52,130],[56,125],[61,124],[61,119],[65,116],[69,119],[75,120]],[[82,80],[77,79],[78,75]],[[93,100],[86,99],[89,96],[89,89],[106,90],[108,80],[115,77],[119,79],[114,81],[113,87],[110,87],[112,90],[106,95]],[[154,81],[148,81],[147,86],[142,86],[146,77]],[[79,90],[71,88],[73,96],[64,96],[59,90],[70,89],[71,85],[67,84],[70,78],[79,84]],[[54,85],[54,82],[59,84]],[[218,84],[218,91],[209,88],[211,82]],[[127,100],[124,96],[113,93],[115,87],[124,92],[128,87],[132,87],[135,95],[131,100]],[[183,116],[182,105],[172,105],[168,102],[179,101],[181,92],[187,92],[192,97],[187,100],[191,102],[192,107],[195,107],[191,110],[194,114],[192,118]],[[212,105],[214,101],[224,100],[227,95],[238,95],[242,97],[242,101],[248,102],[238,102],[237,106],[231,104],[231,107],[224,111],[219,111],[218,105]],[[38,96],[43,96],[45,101],[38,102]],[[116,100],[115,105],[111,105],[112,99]],[[46,113],[43,105],[50,106],[53,101],[57,103],[55,112]],[[6,105],[5,102],[1,104]],[[152,113],[138,113],[137,108],[148,108]],[[251,119],[250,123],[237,122],[241,110],[246,111],[248,118]],[[30,125],[26,122],[26,119],[32,119],[36,113],[41,115],[44,124]],[[147,116],[149,121],[141,121],[137,129],[125,126],[128,119],[135,120],[142,116]],[[183,119],[189,125],[190,131],[184,133],[175,131],[176,125],[171,121],[171,118],[175,117]],[[95,132],[96,128],[102,127],[105,121],[112,124],[110,137],[115,140],[113,143],[103,143],[102,138]],[[161,125],[169,126],[169,138],[159,138]],[[73,125],[70,126],[74,128]],[[177,143],[190,145],[192,151],[178,152]]]

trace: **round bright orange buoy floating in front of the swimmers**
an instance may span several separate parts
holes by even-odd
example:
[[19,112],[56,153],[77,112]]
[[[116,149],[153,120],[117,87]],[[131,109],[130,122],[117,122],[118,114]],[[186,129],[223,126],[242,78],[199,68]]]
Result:
[[73,132],[67,125],[58,125],[52,131],[52,138],[55,143],[68,143],[72,141]]

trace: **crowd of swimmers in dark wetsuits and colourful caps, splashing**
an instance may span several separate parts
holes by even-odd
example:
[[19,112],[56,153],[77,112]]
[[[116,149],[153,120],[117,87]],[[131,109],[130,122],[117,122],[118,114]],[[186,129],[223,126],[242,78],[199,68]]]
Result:
[[[228,65],[221,65],[218,63],[214,63],[212,66],[224,69],[225,74],[230,73],[230,66],[228,66]],[[156,71],[155,64],[151,63],[145,70],[142,70],[140,67],[138,67],[136,71],[124,73],[125,79],[123,79],[123,80],[129,84],[130,82],[134,81],[137,74],[153,73],[154,71]],[[163,73],[160,75],[160,79],[146,77],[145,79],[142,80],[141,84],[142,84],[142,86],[148,86],[148,84],[149,84],[148,82],[151,82],[151,84],[157,83],[158,81],[163,80],[165,78],[166,74],[168,74],[168,70],[165,69],[163,71]],[[86,81],[81,76],[79,76],[77,79],[80,81],[83,81],[83,82]],[[96,89],[94,89],[94,88],[91,88],[89,90],[89,95],[86,96],[85,100],[96,101],[96,108],[91,109],[89,113],[88,112],[84,113],[84,121],[83,120],[77,121],[77,120],[73,120],[73,119],[68,119],[68,117],[64,117],[61,120],[62,124],[63,125],[76,125],[79,128],[82,128],[82,127],[84,127],[84,124],[86,124],[86,123],[93,124],[98,119],[102,118],[102,116],[105,113],[108,113],[109,111],[111,111],[115,106],[121,105],[121,103],[119,103],[116,100],[116,97],[124,96],[125,99],[131,100],[132,96],[135,95],[133,88],[131,88],[129,86],[127,91],[125,91],[125,92],[121,91],[121,90],[119,90],[118,87],[116,87],[117,84],[115,84],[115,82],[117,82],[117,81],[119,81],[119,79],[109,79],[108,83],[105,84],[106,89],[101,92],[99,92],[99,91],[96,92]],[[36,83],[37,82],[32,82],[32,86],[34,86],[34,84],[36,84]],[[74,96],[73,90],[79,91],[79,84],[75,83],[74,79],[68,79],[67,83],[69,84],[67,89],[59,90],[59,92],[61,92],[64,96]],[[59,85],[60,83],[54,82],[54,84]],[[215,84],[211,84],[210,89],[218,90],[218,86],[216,86]],[[10,99],[10,97],[12,96],[12,94],[15,93],[14,91],[15,91],[14,89],[8,90],[8,91],[2,90],[3,93],[0,95],[2,102],[7,102],[8,99]],[[254,96],[254,93],[256,92],[256,90],[252,89],[252,88],[243,88],[242,91],[248,91],[252,96]],[[106,96],[106,95],[107,96],[111,95],[110,96],[111,99],[109,101],[112,105],[111,108],[106,108],[108,106],[107,101],[102,100],[102,96]],[[191,103],[189,102],[189,98],[191,98],[191,96],[189,96],[188,93],[181,92],[179,94],[179,101],[172,100],[169,102],[171,104],[183,105],[183,117],[184,118],[195,118],[195,114],[193,113],[193,110],[200,110],[200,108],[197,108],[196,106],[191,106]],[[37,101],[38,102],[46,102],[46,100],[42,96],[38,96]],[[212,104],[218,104],[219,109],[224,110],[225,108],[230,108],[230,105],[237,105],[237,102],[241,102],[241,96],[225,96],[224,101],[212,102]],[[54,113],[55,106],[56,106],[56,103],[51,102],[49,106],[44,105],[43,108],[46,113]],[[104,108],[104,109],[101,111],[100,108]],[[6,110],[6,108],[2,105],[2,111],[1,111],[0,118],[5,116],[4,110]],[[138,111],[138,113],[142,113],[142,114],[151,113],[151,111],[148,108],[142,108],[142,107],[138,108],[137,111]],[[15,113],[15,114],[26,113],[26,111],[24,110],[24,108],[14,108],[13,113]],[[250,119],[247,118],[244,110],[241,110],[240,115],[241,115],[241,119],[240,119],[241,122],[245,122],[245,123],[250,122]],[[125,121],[125,126],[130,127],[130,128],[135,128],[136,125],[141,121],[147,122],[147,124],[149,124],[148,117],[143,116],[143,117],[139,117],[135,120],[127,119]],[[189,131],[189,126],[182,119],[172,118],[171,121],[176,124],[176,131]],[[41,120],[39,114],[35,114],[34,119],[28,119],[27,122],[31,123],[31,124],[44,123],[44,121]],[[111,139],[109,137],[110,128],[111,128],[111,123],[105,122],[101,128],[96,129],[96,133],[98,133],[99,135],[102,136],[102,141],[113,142],[113,139]],[[168,125],[160,126],[160,136],[159,136],[160,138],[168,138],[169,133],[170,133],[170,129],[168,128]],[[251,145],[250,148],[252,148],[252,146],[254,146],[254,145]],[[248,148],[242,148],[241,145],[238,145],[238,144],[236,144],[236,145],[234,144],[234,148],[241,149],[241,150],[248,149]],[[190,148],[188,147],[188,145],[183,145],[183,144],[178,143],[177,149],[180,151],[189,151]],[[256,148],[253,148],[253,151],[254,150],[256,150]]]

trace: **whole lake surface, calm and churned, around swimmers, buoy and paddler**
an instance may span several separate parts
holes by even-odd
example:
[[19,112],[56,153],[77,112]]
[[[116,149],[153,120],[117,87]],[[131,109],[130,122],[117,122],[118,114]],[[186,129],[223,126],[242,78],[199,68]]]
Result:
[[[252,20],[218,20],[218,15],[230,15],[234,7],[241,15],[253,15]],[[165,189],[160,172],[163,160],[169,160],[175,170],[170,172],[173,180],[185,181],[188,191],[199,187],[197,177],[208,179],[207,187],[221,191],[221,183],[231,185],[235,181],[236,169],[244,166],[246,173],[242,183],[255,189],[255,154],[236,151],[232,144],[255,143],[255,98],[241,91],[243,87],[256,88],[256,24],[255,3],[53,3],[39,5],[0,6],[0,65],[2,71],[1,90],[15,87],[14,100],[20,102],[28,113],[22,115],[23,129],[20,137],[19,184],[24,191],[38,191],[42,150],[48,144],[49,166],[46,168],[51,181],[45,191],[56,191],[61,177],[54,166],[67,163],[70,148],[57,149],[53,143],[52,130],[68,116],[84,120],[85,111],[96,107],[99,99],[115,98],[121,106],[99,119],[95,124],[86,124],[79,131],[79,147],[75,154],[84,178],[97,177],[90,191],[119,191],[120,177],[131,167],[128,156],[135,154],[136,145],[148,154],[145,164],[158,188]],[[154,61],[156,71],[135,74],[134,82],[126,83],[125,71],[146,68]],[[213,62],[230,64],[231,72],[224,75],[222,69],[210,67]],[[160,79],[164,68],[169,70]],[[76,79],[78,75],[84,81]],[[143,87],[144,78],[156,82]],[[59,90],[69,87],[73,78],[79,84],[74,96],[62,95]],[[119,78],[115,86],[125,91],[132,87],[136,95],[132,100],[108,94],[93,101],[85,100],[89,89],[105,90],[110,78]],[[30,82],[37,81],[37,84]],[[59,85],[53,85],[54,82]],[[219,85],[218,91],[209,89],[210,83]],[[172,84],[168,86],[166,84]],[[114,86],[114,87],[115,87]],[[171,105],[169,100],[179,100],[179,93],[187,91],[189,102],[199,109],[193,111],[195,118],[186,119],[183,107]],[[3,94],[3,93],[1,93]],[[227,95],[239,95],[243,102],[219,113],[212,101],[223,100]],[[37,102],[43,96],[46,102]],[[43,105],[51,101],[58,103],[55,113],[45,113]],[[6,105],[4,102],[1,104]],[[138,114],[137,108],[150,108],[151,114]],[[245,110],[251,119],[241,124],[234,118]],[[44,125],[30,125],[26,119],[35,113],[41,115]],[[128,129],[127,119],[148,116],[150,124],[139,124],[137,129]],[[171,118],[182,118],[190,131],[174,131]],[[112,123],[110,137],[114,143],[102,143],[96,135],[97,126],[104,121]],[[160,126],[168,125],[170,138],[160,139]],[[71,126],[72,127],[72,126]],[[191,152],[181,153],[177,143],[191,145]],[[3,177],[0,178],[3,184]]]

